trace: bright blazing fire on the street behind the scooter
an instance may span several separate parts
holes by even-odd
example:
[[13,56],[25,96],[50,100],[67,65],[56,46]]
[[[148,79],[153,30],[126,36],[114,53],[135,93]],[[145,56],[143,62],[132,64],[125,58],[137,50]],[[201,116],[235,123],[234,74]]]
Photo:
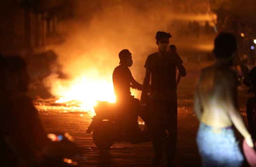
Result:
[[76,77],[68,84],[56,82],[52,91],[60,97],[55,101],[56,103],[69,105],[69,102],[76,101],[85,111],[94,111],[93,106],[97,105],[97,101],[116,101],[112,80],[107,81],[96,76],[95,78]]

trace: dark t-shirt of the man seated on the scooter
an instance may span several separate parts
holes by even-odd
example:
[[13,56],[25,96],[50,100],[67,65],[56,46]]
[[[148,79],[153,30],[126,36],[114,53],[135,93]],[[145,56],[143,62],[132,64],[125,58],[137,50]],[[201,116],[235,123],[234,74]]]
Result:
[[117,100],[131,95],[130,85],[132,78],[131,71],[127,66],[119,65],[114,69],[112,79]]

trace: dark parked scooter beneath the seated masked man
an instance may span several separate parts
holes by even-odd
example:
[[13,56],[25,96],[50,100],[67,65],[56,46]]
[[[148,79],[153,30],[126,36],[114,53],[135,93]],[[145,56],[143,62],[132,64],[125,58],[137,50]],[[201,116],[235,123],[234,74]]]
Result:
[[[145,127],[149,126],[149,94],[146,104],[141,108],[139,116],[144,120]],[[92,133],[94,144],[100,149],[109,149],[115,141],[126,141],[130,143],[150,142],[150,131],[144,128],[141,131],[138,124],[132,123],[129,116],[121,112],[123,109],[115,103],[99,101],[94,107],[96,115],[86,133]]]

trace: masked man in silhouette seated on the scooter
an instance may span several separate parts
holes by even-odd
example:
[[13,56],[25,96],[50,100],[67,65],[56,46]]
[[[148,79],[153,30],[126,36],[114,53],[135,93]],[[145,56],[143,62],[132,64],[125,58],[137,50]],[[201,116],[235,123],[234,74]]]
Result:
[[130,87],[142,90],[142,84],[133,78],[128,68],[133,64],[130,51],[128,49],[121,50],[119,59],[120,65],[114,69],[112,76],[116,103],[122,106],[123,114],[129,116],[131,121],[137,124],[140,101],[131,95]]

